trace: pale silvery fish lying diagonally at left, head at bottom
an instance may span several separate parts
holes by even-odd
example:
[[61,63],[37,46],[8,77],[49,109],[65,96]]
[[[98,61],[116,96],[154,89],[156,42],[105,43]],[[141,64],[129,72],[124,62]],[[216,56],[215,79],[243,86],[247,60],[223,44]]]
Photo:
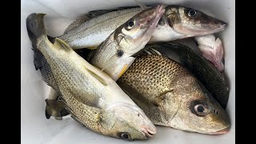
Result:
[[44,69],[43,80],[60,95],[71,117],[86,128],[113,138],[153,137],[154,124],[110,76],[86,62],[61,39],[56,38],[54,44],[49,41],[44,15],[33,13],[26,18],[32,47],[44,56],[34,61],[39,66],[44,64],[40,68]]

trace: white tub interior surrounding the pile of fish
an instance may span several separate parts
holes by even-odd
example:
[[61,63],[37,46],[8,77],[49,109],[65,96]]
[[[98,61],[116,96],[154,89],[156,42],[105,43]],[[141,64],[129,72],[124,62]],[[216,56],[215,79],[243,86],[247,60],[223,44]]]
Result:
[[[218,34],[222,39],[225,49],[226,74],[230,78],[230,99],[227,105],[227,113],[231,119],[231,130],[228,134],[207,135],[174,130],[169,127],[157,126],[158,133],[148,141],[136,141],[133,143],[207,143],[228,144],[234,143],[235,133],[235,19],[233,0],[140,0],[150,5],[155,3],[178,4],[190,6],[202,10],[215,18],[228,23],[225,31]],[[26,17],[31,13],[45,13],[45,25],[47,33],[58,36],[64,32],[70,22],[78,16],[90,10],[110,9],[119,6],[136,6],[134,0],[22,0],[21,15],[21,125],[22,144],[84,144],[84,143],[128,143],[121,139],[110,138],[94,133],[82,127],[72,118],[67,117],[62,121],[54,118],[46,119],[45,98],[49,91],[42,81],[39,71],[34,69],[33,50],[31,50],[30,39],[26,32]],[[178,41],[180,42],[180,41]],[[184,42],[182,42],[184,43]],[[186,44],[186,43],[185,43]],[[190,45],[188,45],[190,46]]]

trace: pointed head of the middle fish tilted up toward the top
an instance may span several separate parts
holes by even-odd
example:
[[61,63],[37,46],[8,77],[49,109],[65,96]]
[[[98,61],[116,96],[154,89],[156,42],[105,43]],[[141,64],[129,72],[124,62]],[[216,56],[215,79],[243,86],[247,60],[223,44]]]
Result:
[[114,31],[114,39],[119,50],[126,54],[135,54],[150,41],[158,21],[165,12],[163,5],[142,10]]

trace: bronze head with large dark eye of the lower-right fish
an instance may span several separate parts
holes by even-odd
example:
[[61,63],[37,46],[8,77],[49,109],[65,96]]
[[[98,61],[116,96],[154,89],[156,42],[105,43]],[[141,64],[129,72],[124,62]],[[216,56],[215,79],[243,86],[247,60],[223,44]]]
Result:
[[195,78],[185,79],[186,84],[175,91],[183,97],[168,125],[201,134],[226,134],[230,130],[230,118],[226,111]]

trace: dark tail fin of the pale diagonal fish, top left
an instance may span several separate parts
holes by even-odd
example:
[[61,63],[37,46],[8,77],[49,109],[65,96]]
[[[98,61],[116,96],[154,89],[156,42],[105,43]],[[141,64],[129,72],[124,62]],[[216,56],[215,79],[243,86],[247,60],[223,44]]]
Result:
[[43,17],[46,14],[30,14],[26,18],[26,29],[33,47],[36,46],[37,38],[46,35]]

